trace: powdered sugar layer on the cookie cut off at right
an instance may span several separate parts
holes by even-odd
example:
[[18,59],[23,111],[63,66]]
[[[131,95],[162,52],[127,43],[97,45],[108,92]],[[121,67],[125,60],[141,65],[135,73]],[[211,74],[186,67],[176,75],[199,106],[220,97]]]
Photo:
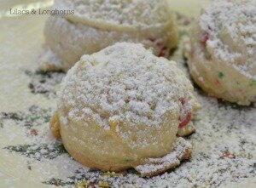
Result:
[[256,1],[217,0],[200,17],[212,57],[256,78]]

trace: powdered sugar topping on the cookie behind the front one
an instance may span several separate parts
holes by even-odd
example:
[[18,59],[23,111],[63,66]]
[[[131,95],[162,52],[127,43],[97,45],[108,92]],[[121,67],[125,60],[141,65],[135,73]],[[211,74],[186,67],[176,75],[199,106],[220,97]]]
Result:
[[[170,14],[166,0],[61,0],[55,1],[55,7],[73,9],[73,15],[66,15],[73,21],[89,24],[103,23],[116,29],[146,29],[168,25]],[[102,27],[99,25],[99,27]]]

